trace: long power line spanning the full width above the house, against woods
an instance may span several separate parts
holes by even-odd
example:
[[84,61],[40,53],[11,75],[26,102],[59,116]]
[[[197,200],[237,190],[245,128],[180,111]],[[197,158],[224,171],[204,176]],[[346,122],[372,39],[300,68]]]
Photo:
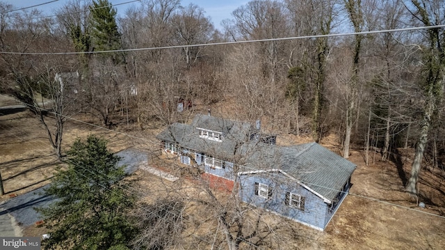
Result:
[[340,36],[358,36],[358,35],[369,35],[376,33],[390,33],[390,32],[402,32],[402,31],[418,31],[423,29],[440,29],[444,28],[445,24],[432,25],[432,26],[421,26],[421,27],[411,27],[403,29],[385,29],[380,31],[363,31],[363,32],[351,32],[351,33],[334,33],[327,35],[313,35],[313,36],[291,36],[286,38],[268,38],[268,39],[257,39],[257,40],[243,40],[243,41],[232,41],[232,42],[212,42],[212,43],[201,43],[195,45],[172,45],[163,47],[145,47],[145,48],[134,48],[134,49],[116,49],[116,50],[103,50],[95,52],[0,52],[0,54],[20,54],[20,55],[71,55],[71,54],[99,54],[99,53],[116,53],[116,52],[138,52],[145,50],[156,50],[156,49],[178,49],[187,47],[205,47],[205,46],[216,46],[216,45],[236,45],[245,44],[253,42],[272,42],[272,41],[283,41],[283,40],[300,40],[300,39],[311,39],[311,38],[334,38]]

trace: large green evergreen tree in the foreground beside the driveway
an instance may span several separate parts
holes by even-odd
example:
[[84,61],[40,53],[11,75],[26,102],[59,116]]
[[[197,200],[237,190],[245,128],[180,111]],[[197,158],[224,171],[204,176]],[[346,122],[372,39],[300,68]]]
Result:
[[68,151],[68,168],[56,173],[45,193],[57,200],[39,211],[51,237],[46,249],[127,249],[136,234],[128,212],[135,197],[126,192],[120,157],[97,136],[77,139]]

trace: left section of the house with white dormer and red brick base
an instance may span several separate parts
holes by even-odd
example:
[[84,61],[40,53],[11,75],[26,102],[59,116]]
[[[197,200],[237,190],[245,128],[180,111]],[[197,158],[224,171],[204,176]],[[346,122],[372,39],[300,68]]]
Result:
[[156,136],[165,153],[182,164],[200,166],[216,182],[234,185],[236,148],[258,133],[250,123],[196,115],[190,125],[173,123]]

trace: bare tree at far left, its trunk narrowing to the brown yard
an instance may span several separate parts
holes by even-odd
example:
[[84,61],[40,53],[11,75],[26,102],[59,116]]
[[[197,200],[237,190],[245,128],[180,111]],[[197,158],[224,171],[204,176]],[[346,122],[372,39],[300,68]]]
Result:
[[[51,41],[57,40],[51,33],[50,19],[42,19],[36,10],[3,15],[0,31],[3,52],[39,51]],[[61,40],[59,40],[61,41]],[[54,52],[63,43],[54,46]],[[0,54],[2,63],[8,69],[7,92],[23,102],[35,114],[47,132],[49,143],[60,159],[62,157],[63,123],[70,114],[73,96],[63,91],[63,86],[55,79],[56,73],[66,65],[49,56],[29,56],[25,54]],[[47,97],[48,102],[38,100]],[[54,129],[47,116],[54,118]]]

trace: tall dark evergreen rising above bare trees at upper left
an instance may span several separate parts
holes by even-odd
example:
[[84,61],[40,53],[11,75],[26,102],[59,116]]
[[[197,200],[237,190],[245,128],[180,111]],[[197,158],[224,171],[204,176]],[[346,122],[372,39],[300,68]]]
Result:
[[[92,24],[92,42],[96,51],[122,49],[118,24],[116,23],[117,10],[108,0],[92,1],[90,6]],[[119,54],[113,53],[113,61],[121,61]]]

